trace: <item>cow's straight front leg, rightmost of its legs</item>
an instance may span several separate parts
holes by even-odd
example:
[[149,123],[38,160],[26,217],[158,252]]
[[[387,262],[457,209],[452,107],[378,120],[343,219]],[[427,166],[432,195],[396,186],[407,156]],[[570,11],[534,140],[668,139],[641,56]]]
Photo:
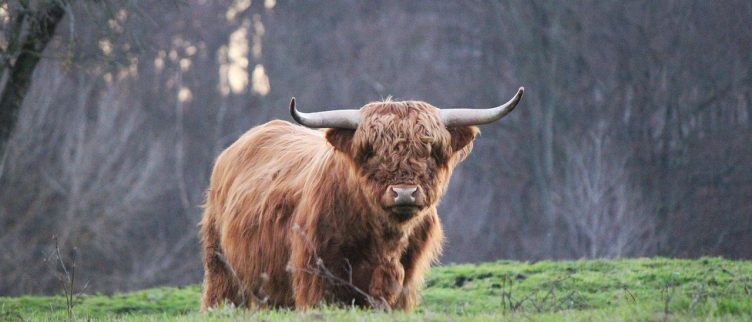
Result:
[[410,236],[407,249],[400,260],[405,269],[402,293],[392,308],[410,311],[418,305],[425,273],[441,253],[443,241],[444,233],[434,211],[415,227]]

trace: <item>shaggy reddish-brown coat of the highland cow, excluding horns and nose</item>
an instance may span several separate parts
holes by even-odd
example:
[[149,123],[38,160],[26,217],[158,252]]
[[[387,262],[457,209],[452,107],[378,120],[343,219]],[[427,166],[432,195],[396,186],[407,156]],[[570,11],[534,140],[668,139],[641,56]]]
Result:
[[[395,309],[418,304],[441,252],[437,203],[478,129],[447,129],[424,102],[361,112],[355,131],[271,121],[219,156],[201,221],[202,309],[254,298],[300,309],[374,305],[369,298]],[[389,185],[404,183],[425,193],[409,218],[380,204]]]

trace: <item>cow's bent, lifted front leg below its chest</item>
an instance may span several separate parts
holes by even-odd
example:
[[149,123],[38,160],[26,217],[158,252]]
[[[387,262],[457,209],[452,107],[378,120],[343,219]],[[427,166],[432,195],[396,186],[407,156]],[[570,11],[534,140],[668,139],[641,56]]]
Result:
[[368,293],[381,304],[394,306],[402,292],[405,270],[396,259],[380,263],[373,270]]

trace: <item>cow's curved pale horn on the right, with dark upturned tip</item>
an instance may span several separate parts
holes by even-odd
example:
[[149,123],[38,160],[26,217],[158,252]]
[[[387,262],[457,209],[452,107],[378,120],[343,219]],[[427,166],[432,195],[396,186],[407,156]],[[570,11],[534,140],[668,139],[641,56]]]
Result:
[[524,87],[517,90],[517,94],[509,102],[488,109],[469,109],[469,108],[450,108],[441,110],[441,120],[444,125],[449,126],[469,126],[481,125],[494,122],[514,110],[517,103],[520,102],[522,94],[525,92]]

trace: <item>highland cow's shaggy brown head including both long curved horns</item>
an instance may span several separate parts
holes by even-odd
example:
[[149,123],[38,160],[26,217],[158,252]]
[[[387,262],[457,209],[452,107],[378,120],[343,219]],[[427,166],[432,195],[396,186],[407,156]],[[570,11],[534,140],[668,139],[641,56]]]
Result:
[[511,112],[523,88],[490,109],[438,109],[419,101],[374,102],[359,110],[302,113],[290,102],[296,122],[329,128],[326,139],[351,160],[370,206],[405,222],[434,206],[454,167],[472,149],[475,125]]

